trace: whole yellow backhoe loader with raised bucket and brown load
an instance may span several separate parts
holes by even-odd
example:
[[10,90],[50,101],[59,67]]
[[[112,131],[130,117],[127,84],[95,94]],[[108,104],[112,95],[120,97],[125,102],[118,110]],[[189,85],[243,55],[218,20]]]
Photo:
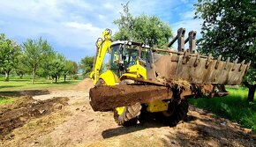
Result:
[[[167,48],[152,48],[130,40],[110,39],[106,29],[96,41],[94,69],[90,77],[90,104],[94,111],[114,111],[119,125],[143,122],[148,114],[169,126],[176,126],[188,112],[188,98],[224,96],[224,85],[239,85],[248,70],[245,64],[223,62],[196,52],[196,32],[184,39],[185,29]],[[177,51],[170,49],[177,40]],[[184,44],[189,42],[189,48]],[[109,69],[100,74],[106,54]]]

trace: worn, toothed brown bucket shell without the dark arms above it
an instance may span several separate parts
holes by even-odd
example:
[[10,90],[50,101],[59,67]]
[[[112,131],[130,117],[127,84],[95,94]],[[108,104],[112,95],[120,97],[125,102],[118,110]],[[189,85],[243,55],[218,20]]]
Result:
[[154,54],[154,70],[157,78],[182,78],[190,84],[240,85],[250,63],[230,62],[230,59],[223,62],[221,58],[187,52],[183,55]]

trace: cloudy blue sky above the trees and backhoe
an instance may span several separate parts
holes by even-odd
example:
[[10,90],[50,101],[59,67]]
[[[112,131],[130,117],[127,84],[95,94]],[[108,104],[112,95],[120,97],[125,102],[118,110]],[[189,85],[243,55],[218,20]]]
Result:
[[[79,62],[94,55],[94,42],[105,28],[117,32],[113,20],[123,10],[119,0],[2,0],[0,33],[22,43],[42,37],[59,53]],[[136,0],[130,2],[133,16],[154,15],[169,23],[173,33],[184,27],[200,33],[201,20],[193,19],[195,0]],[[198,38],[200,34],[198,34]]]

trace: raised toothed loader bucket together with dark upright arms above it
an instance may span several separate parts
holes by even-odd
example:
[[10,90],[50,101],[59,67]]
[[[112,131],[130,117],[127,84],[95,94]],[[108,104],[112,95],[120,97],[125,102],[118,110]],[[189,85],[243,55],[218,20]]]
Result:
[[[203,56],[196,53],[196,31],[188,33],[184,40],[184,28],[177,30],[177,36],[169,42],[168,47],[177,40],[177,51],[154,49],[164,51],[169,55],[154,54],[154,68],[151,68],[150,78],[177,79],[182,78],[190,84],[209,85],[240,85],[245,72],[249,69],[250,62],[230,62],[230,58],[222,61],[220,55],[214,59],[212,55]],[[189,42],[189,49],[185,51],[184,44]],[[152,73],[156,73],[152,77]]]

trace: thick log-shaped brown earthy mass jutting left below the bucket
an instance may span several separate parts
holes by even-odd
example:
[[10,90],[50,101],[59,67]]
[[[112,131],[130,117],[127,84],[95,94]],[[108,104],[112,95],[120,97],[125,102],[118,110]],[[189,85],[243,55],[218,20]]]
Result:
[[172,92],[157,85],[101,85],[90,89],[90,104],[94,111],[112,110],[115,107],[134,105],[136,102],[147,103],[169,97],[172,97]]

